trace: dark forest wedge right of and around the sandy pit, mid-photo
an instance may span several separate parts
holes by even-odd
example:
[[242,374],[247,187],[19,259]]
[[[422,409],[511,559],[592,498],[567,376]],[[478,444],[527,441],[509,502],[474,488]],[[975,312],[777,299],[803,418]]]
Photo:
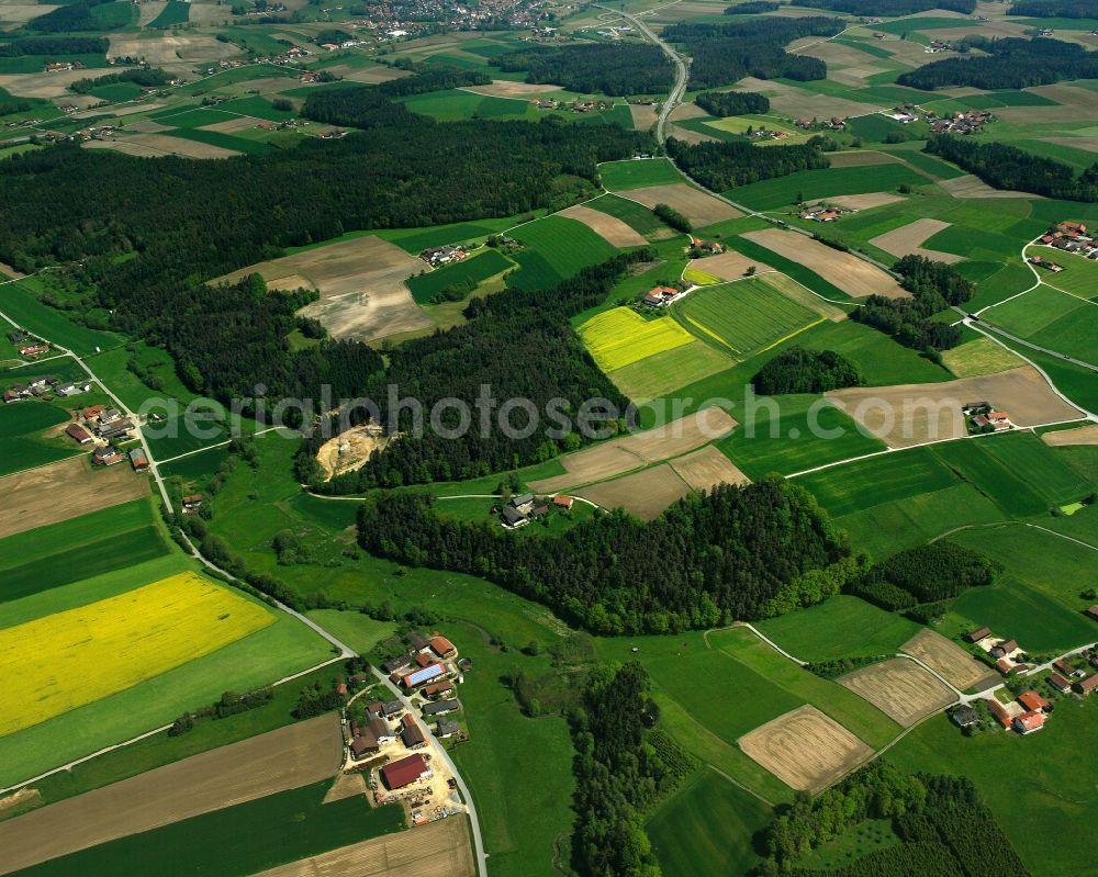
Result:
[[[573,419],[589,398],[608,400],[618,412],[625,412],[628,401],[594,364],[569,317],[605,301],[627,271],[654,258],[653,250],[635,250],[586,268],[550,290],[511,290],[506,295],[472,300],[466,310],[466,324],[405,341],[388,353],[388,371],[362,384],[363,394],[377,401],[380,417],[391,431],[422,435],[392,442],[357,472],[326,483],[320,481],[315,464],[314,454],[323,441],[316,435],[304,442],[299,454],[299,477],[314,482],[317,492],[349,494],[376,486],[477,477],[542,462],[581,447],[587,437],[574,424],[556,431],[551,420],[526,437],[508,438],[493,423],[493,412],[478,406],[481,387],[491,390],[496,405],[522,398],[541,416],[554,400],[564,401],[564,413]],[[522,368],[515,367],[516,357],[522,359]],[[428,421],[423,430],[414,430],[411,411],[390,407],[390,386],[414,395],[427,412],[445,400],[458,400],[467,411],[482,413],[475,415],[478,420],[471,428],[459,430],[460,414],[447,408],[440,412],[439,429],[426,428]],[[489,419],[488,430],[482,429],[480,417]],[[518,414],[512,418],[516,428],[525,426],[525,417]],[[617,420],[607,428],[617,429]],[[460,435],[446,437],[445,430]]]

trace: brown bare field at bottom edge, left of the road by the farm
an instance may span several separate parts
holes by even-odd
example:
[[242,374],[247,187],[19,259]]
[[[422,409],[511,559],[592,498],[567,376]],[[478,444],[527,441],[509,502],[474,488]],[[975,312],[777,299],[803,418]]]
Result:
[[467,817],[388,834],[261,872],[256,877],[473,877]]

